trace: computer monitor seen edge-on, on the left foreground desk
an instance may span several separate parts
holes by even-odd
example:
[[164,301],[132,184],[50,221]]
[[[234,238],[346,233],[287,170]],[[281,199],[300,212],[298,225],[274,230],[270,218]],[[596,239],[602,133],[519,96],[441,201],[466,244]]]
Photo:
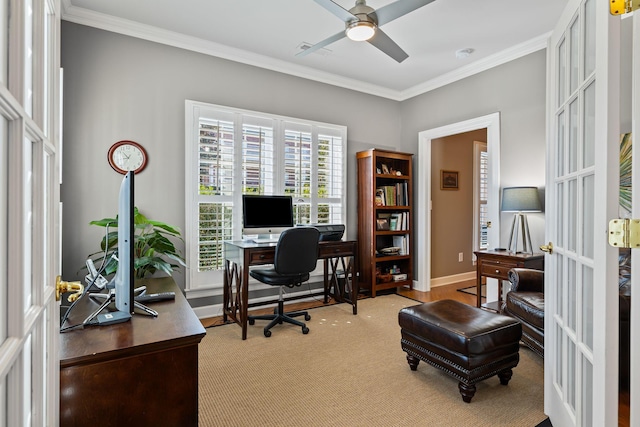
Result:
[[122,179],[118,196],[118,269],[107,285],[115,289],[116,309],[133,313],[134,270],[134,172]]

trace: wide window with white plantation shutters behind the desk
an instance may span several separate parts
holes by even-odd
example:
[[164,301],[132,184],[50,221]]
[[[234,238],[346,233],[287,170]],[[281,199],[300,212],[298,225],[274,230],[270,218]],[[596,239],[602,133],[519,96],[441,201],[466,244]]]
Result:
[[346,127],[186,101],[187,291],[222,287],[242,194],[293,198],[294,222],[346,222]]

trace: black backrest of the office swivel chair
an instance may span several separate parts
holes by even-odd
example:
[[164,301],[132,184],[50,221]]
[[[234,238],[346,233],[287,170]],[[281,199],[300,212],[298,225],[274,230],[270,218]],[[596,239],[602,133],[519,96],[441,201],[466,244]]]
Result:
[[320,232],[313,227],[294,227],[280,234],[273,267],[278,274],[306,274],[316,268]]

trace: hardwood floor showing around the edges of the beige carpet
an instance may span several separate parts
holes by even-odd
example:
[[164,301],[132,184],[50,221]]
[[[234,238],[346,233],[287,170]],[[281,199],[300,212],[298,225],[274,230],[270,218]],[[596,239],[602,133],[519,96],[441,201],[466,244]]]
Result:
[[[466,288],[469,286],[474,286],[476,284],[475,279],[453,283],[451,285],[438,286],[433,288],[429,292],[422,292],[416,290],[410,290],[406,288],[401,288],[397,291],[399,295],[405,296],[407,298],[414,299],[416,301],[421,302],[431,302],[438,301],[441,299],[453,299],[456,301],[463,302],[469,305],[476,305],[476,296],[471,295],[464,292],[459,292],[458,289]],[[390,290],[393,292],[393,290]],[[381,292],[383,294],[384,292]],[[368,296],[363,296],[363,298],[368,298]],[[329,304],[335,304],[335,301],[330,301]],[[318,299],[317,301],[308,301],[308,302],[298,302],[298,303],[289,303],[286,305],[287,310],[296,311],[296,310],[306,310],[315,307],[321,307],[325,305],[322,302],[322,299]],[[260,310],[252,310],[251,314],[261,314],[261,313],[271,313],[273,308],[266,308]],[[200,319],[202,325],[205,328],[211,326],[218,326],[224,324],[222,322],[222,317],[213,317],[209,319]],[[618,427],[629,427],[629,393],[622,392],[619,396],[619,405],[618,405]]]

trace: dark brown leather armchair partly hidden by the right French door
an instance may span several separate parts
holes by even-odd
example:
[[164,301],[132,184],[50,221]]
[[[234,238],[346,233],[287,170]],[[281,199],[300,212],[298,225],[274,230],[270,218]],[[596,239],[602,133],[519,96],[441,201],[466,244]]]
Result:
[[522,342],[544,357],[544,271],[512,268],[502,313],[522,323]]

